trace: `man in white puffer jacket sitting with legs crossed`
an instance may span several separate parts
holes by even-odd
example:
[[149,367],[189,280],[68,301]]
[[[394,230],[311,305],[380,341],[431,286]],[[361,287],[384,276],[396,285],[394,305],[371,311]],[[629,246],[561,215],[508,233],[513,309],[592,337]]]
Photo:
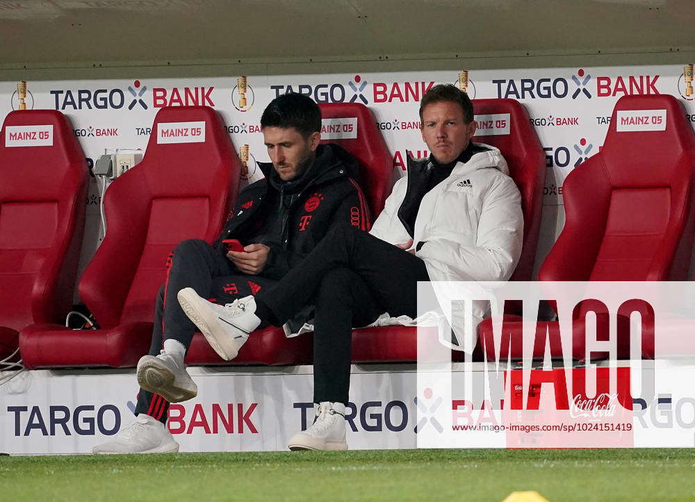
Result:
[[471,100],[453,85],[436,85],[420,103],[420,119],[432,155],[409,160],[371,235],[337,226],[272,289],[229,306],[190,288],[179,292],[181,308],[222,357],[236,353],[261,321],[281,326],[306,304],[316,306],[317,417],[291,437],[290,449],[347,449],[352,327],[384,312],[416,317],[418,281],[506,281],[516,267],[521,196],[500,151],[470,141]]

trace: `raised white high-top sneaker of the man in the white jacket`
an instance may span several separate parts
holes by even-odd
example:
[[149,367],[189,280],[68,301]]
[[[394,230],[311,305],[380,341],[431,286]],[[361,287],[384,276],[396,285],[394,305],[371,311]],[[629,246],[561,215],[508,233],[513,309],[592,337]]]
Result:
[[254,313],[256,300],[253,296],[234,300],[224,307],[201,298],[192,287],[184,287],[177,296],[188,319],[226,361],[236,358],[250,333],[261,324]]

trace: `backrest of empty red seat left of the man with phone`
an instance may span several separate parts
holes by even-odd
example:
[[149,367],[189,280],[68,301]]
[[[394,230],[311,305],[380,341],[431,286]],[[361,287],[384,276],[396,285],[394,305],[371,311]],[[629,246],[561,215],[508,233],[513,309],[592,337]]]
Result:
[[80,281],[82,300],[102,328],[152,321],[168,254],[181,240],[218,237],[239,174],[215,110],[159,110],[142,162],[108,187],[106,238]]

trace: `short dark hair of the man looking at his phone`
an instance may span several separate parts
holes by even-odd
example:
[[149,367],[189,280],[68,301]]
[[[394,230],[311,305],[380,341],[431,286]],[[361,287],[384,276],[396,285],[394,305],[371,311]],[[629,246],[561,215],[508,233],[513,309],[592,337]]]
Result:
[[266,127],[293,127],[304,137],[321,131],[321,109],[304,94],[282,94],[270,101],[261,116],[261,130]]

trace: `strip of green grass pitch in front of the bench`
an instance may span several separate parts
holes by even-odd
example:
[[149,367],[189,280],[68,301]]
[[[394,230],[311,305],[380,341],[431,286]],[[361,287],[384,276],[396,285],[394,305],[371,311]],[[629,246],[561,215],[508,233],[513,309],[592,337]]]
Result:
[[0,500],[695,500],[695,449],[0,457]]

